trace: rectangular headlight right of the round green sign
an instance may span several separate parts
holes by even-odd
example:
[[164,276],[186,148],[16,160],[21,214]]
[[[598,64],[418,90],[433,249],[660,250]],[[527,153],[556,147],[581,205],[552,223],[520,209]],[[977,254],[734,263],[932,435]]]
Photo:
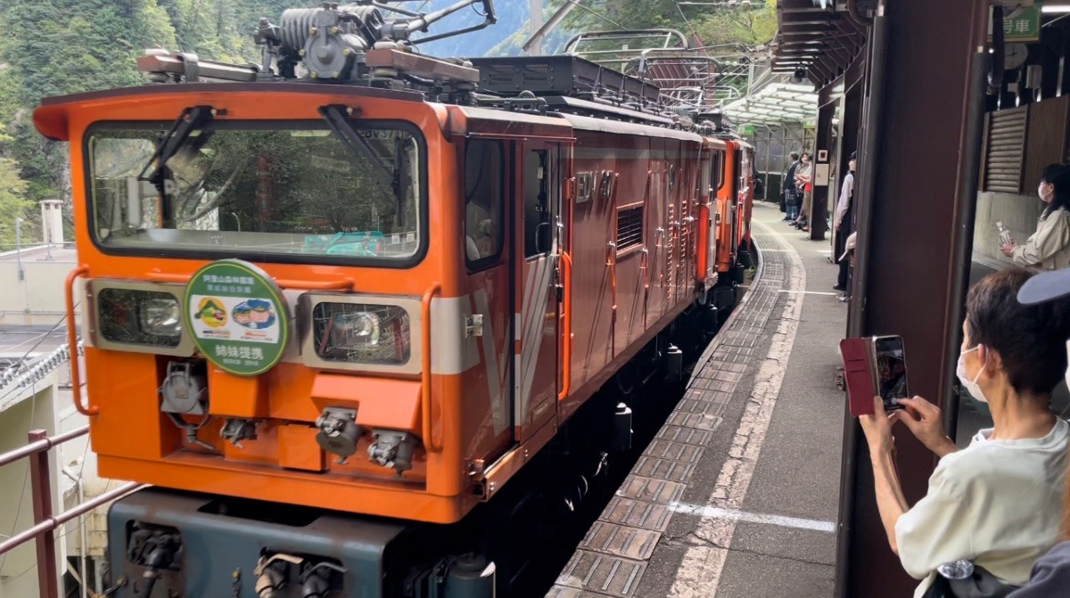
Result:
[[321,359],[391,365],[409,361],[409,313],[397,306],[320,303],[312,309],[312,333]]

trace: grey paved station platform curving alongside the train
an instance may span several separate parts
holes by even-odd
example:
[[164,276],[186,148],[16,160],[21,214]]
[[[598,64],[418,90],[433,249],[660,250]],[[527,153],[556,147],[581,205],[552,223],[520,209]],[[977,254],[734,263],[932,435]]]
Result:
[[832,596],[847,304],[782,217],[754,206],[749,291],[548,597]]

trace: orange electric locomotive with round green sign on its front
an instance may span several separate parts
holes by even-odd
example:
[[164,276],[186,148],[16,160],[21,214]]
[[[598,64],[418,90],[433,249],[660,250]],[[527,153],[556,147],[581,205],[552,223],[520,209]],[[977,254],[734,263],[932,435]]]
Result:
[[[102,476],[157,487],[109,515],[118,595],[483,596],[486,538],[406,522],[468,525],[566,428],[627,446],[592,397],[678,375],[734,297],[748,145],[579,59],[414,53],[432,20],[291,10],[264,65],[153,51],[156,85],[35,111],[71,142],[78,409]],[[567,89],[508,93],[536,66]]]

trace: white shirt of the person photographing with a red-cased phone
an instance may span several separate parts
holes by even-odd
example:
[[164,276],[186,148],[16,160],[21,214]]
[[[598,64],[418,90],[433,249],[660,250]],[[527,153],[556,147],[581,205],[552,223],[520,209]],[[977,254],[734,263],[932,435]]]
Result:
[[981,430],[936,465],[929,492],[896,523],[899,558],[924,580],[965,558],[1004,583],[1024,585],[1034,563],[1059,540],[1070,426],[1058,419],[1042,439],[990,440]]

